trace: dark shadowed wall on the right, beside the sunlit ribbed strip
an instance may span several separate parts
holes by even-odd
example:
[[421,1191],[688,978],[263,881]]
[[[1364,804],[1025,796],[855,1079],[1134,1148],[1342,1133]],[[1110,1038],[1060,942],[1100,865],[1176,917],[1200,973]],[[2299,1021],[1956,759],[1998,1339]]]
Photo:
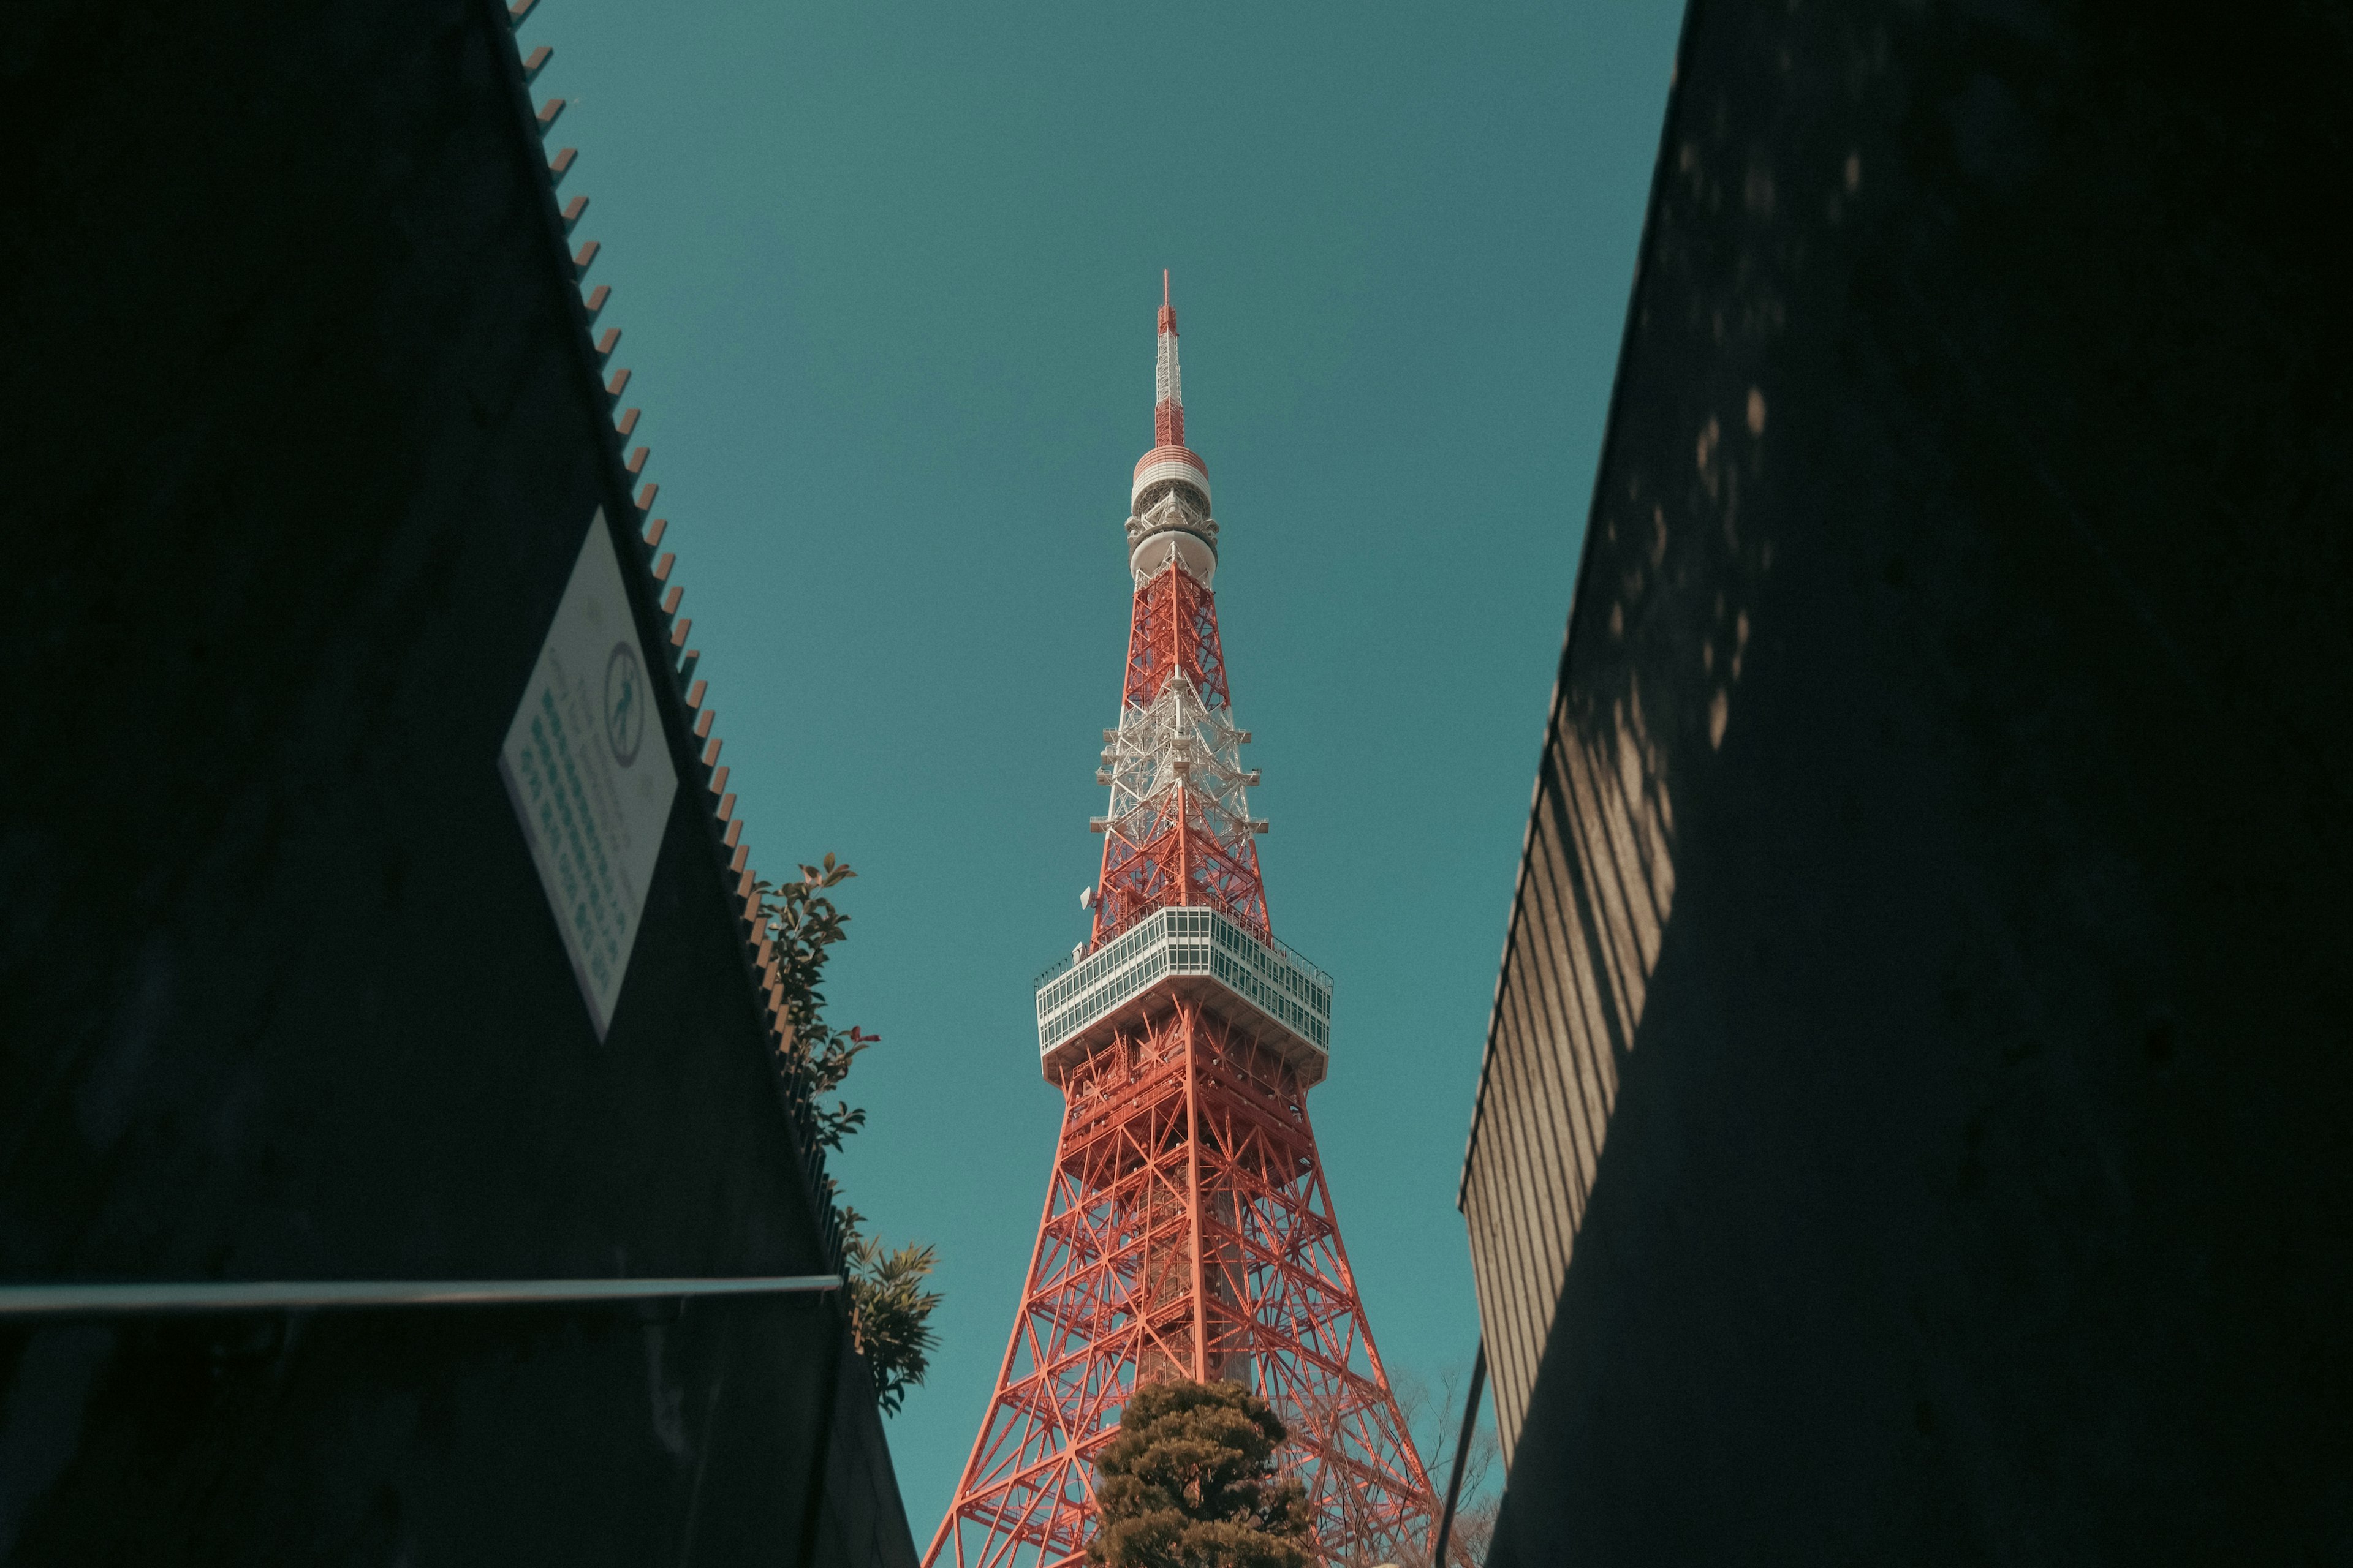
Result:
[[1694,2],[1555,710],[1671,910],[1492,1561],[2353,1561],[2348,45]]

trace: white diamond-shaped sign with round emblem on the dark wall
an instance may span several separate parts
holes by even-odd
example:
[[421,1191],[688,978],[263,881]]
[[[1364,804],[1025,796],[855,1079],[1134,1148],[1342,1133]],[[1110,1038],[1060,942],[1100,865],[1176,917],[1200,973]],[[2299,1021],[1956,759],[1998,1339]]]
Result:
[[522,818],[600,1041],[678,797],[652,679],[598,508],[506,726],[499,778]]

